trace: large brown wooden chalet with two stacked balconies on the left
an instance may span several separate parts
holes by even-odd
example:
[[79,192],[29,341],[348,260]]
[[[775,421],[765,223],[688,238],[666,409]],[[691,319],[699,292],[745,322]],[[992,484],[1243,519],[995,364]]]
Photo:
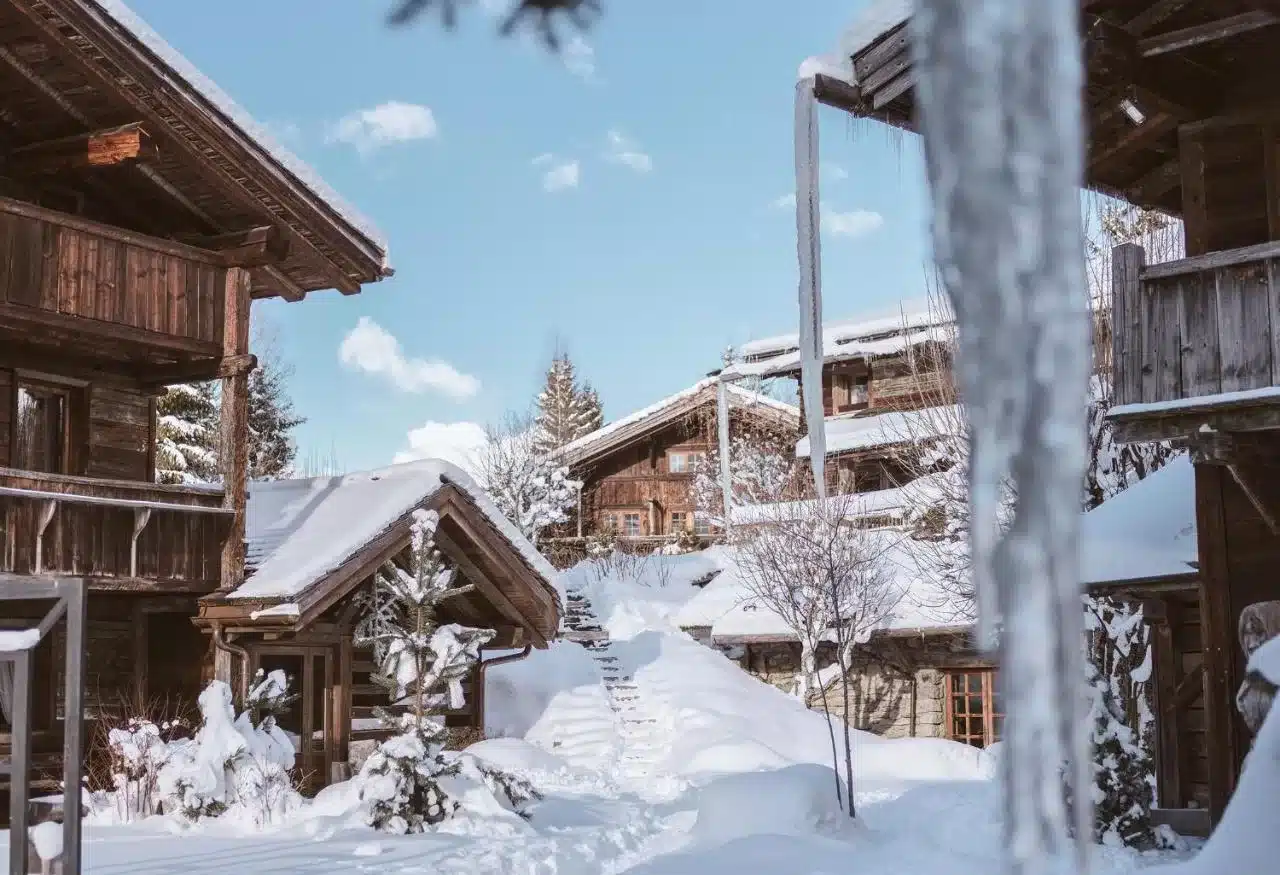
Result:
[[[33,656],[38,765],[67,720],[84,728],[124,700],[191,705],[209,675],[268,664],[253,640],[337,635],[329,590],[278,628],[228,606],[246,577],[248,493],[270,489],[246,482],[250,311],[264,298],[356,294],[392,271],[366,221],[119,5],[0,0],[0,582],[35,592],[82,581],[90,592],[82,714],[65,714],[56,692],[65,633]],[[223,485],[156,484],[156,398],[209,379],[221,380]],[[484,522],[492,514],[448,489],[433,496],[447,504],[453,560],[477,569],[477,586],[492,581],[481,591],[497,604],[512,586],[517,601],[544,597]],[[393,541],[375,532],[367,555]],[[458,610],[481,617],[479,604]],[[550,609],[538,610],[545,636]],[[0,628],[44,615],[35,601],[0,603]],[[294,663],[307,707],[337,709],[339,693],[349,701],[344,651],[333,637],[315,646],[294,651],[320,660]],[[333,746],[342,718],[325,714]],[[321,762],[311,748],[303,759]]]

